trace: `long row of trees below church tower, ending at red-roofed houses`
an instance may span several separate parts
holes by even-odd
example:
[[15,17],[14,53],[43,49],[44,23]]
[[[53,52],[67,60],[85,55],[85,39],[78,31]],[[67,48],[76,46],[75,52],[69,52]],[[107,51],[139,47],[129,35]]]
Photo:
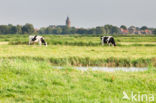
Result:
[[39,34],[119,34],[120,29],[113,25],[99,26],[96,28],[75,28],[67,26],[49,26],[40,28]]

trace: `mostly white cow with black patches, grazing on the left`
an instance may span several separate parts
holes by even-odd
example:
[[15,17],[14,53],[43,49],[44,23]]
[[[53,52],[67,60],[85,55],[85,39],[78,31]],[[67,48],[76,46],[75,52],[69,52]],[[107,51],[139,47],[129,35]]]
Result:
[[29,45],[32,43],[37,43],[37,42],[39,45],[44,44],[45,46],[47,46],[47,42],[44,40],[42,36],[38,36],[38,35],[29,36]]

